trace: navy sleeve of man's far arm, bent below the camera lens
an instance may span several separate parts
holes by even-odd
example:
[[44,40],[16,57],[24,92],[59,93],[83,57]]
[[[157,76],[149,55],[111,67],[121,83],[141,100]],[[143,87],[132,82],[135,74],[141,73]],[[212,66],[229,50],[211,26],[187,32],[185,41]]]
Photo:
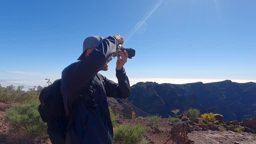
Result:
[[128,98],[130,96],[130,82],[125,73],[125,69],[116,70],[118,83],[105,78],[105,89],[107,97]]

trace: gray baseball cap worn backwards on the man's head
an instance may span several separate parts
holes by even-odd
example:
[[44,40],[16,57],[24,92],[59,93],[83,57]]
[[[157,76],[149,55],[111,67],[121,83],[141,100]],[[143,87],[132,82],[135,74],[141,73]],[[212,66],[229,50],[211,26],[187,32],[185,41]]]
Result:
[[84,53],[87,49],[97,47],[102,41],[104,37],[100,36],[89,36],[84,40],[83,43],[83,53],[77,60],[82,60],[84,58]]

